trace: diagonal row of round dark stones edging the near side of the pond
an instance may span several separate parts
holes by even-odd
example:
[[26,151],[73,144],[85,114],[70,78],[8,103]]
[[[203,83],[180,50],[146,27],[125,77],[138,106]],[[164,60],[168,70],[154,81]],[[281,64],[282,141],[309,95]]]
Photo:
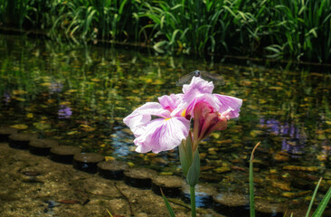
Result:
[[[60,146],[55,140],[39,139],[37,134],[19,133],[12,127],[0,127],[0,143],[8,144],[8,146],[14,149],[29,149],[29,152],[36,156],[49,156],[52,161],[57,163],[72,164],[73,168],[90,175],[98,173],[100,177],[105,179],[124,180],[124,183],[129,186],[152,190],[157,195],[161,194],[159,189],[162,188],[171,202],[182,203],[181,205],[186,207],[187,212],[189,211],[188,204],[185,204],[189,203],[189,188],[181,177],[157,175],[156,171],[147,168],[130,168],[126,163],[116,160],[105,161],[105,157],[102,155],[81,153],[80,147]],[[24,175],[33,177],[39,174],[38,172],[26,171]],[[124,194],[122,195],[126,197]],[[178,198],[181,198],[181,200],[178,200]],[[161,197],[159,197],[159,201],[163,203]],[[67,201],[67,203],[72,202]],[[200,209],[200,213],[207,213],[208,210],[205,209],[213,209],[213,212],[227,216],[249,216],[249,199],[246,195],[240,193],[216,193],[216,190],[210,184],[198,184],[196,186],[196,205],[199,208],[203,208]],[[289,214],[290,212],[295,212],[295,216],[300,216],[305,210],[288,212],[287,207],[282,203],[269,203],[256,199],[256,212],[259,216],[277,217],[286,216],[284,214]]]

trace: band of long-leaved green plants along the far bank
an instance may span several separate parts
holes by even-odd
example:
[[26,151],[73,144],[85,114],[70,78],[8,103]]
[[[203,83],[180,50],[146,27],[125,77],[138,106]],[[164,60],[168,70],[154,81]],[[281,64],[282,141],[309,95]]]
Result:
[[157,52],[331,61],[331,0],[0,0],[0,22]]

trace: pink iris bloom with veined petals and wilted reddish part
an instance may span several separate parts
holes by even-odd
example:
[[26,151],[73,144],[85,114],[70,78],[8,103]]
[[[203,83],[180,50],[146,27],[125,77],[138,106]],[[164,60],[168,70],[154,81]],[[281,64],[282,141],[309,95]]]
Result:
[[136,137],[136,151],[159,153],[179,146],[189,135],[191,118],[193,150],[213,131],[225,129],[229,119],[239,117],[242,100],[213,94],[213,88],[213,82],[194,77],[183,86],[183,94],[162,96],[158,103],[147,102],[135,109],[123,121]]

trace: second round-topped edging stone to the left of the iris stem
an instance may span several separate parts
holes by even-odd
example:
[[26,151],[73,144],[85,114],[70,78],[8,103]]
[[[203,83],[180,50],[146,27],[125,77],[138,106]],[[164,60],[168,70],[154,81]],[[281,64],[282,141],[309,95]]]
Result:
[[152,178],[156,177],[155,170],[147,168],[130,168],[124,171],[124,181],[126,184],[141,189],[152,187]]

